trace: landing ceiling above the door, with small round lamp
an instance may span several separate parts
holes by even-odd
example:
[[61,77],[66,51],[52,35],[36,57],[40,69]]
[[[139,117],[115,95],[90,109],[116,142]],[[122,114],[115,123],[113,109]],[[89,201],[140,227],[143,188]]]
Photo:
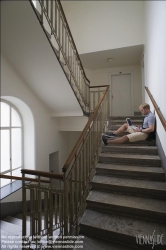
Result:
[[[87,69],[104,69],[140,64],[143,50],[143,45],[137,45],[81,54],[80,58],[83,66]],[[112,58],[113,60],[108,62],[108,58]]]

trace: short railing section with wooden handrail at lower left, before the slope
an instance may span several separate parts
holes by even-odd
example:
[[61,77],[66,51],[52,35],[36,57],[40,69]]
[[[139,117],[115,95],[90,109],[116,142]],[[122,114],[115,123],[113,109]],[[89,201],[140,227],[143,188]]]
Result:
[[[58,236],[64,235],[64,191],[54,184],[54,180],[63,181],[63,174],[29,169],[22,169],[21,172],[22,249],[53,249]],[[37,179],[33,180],[25,175],[34,175]],[[31,179],[30,183],[26,182],[28,179]],[[27,216],[30,217],[28,223]]]

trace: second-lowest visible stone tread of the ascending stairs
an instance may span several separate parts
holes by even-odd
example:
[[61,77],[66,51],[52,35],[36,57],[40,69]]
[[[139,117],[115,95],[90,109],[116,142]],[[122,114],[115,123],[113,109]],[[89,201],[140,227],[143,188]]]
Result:
[[121,207],[130,207],[141,210],[164,213],[166,215],[166,201],[155,200],[152,198],[137,197],[131,195],[115,194],[92,190],[87,201],[93,201],[108,205],[117,205]]

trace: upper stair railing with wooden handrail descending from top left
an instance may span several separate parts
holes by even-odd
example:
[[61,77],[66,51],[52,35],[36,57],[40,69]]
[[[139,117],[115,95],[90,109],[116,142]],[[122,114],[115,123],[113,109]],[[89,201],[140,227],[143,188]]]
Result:
[[[84,113],[87,114],[89,113],[90,104],[90,81],[86,77],[62,5],[59,0],[38,1],[41,6],[41,24],[44,24],[45,18],[51,29],[51,35],[55,38],[54,42],[50,38],[50,43],[61,65],[63,65],[69,83]],[[30,2],[32,3],[32,0]]]

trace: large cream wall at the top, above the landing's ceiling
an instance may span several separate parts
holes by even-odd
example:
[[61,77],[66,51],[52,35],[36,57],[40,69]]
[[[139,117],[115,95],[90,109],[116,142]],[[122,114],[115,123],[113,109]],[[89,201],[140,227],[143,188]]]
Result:
[[144,1],[62,1],[80,54],[144,44]]

